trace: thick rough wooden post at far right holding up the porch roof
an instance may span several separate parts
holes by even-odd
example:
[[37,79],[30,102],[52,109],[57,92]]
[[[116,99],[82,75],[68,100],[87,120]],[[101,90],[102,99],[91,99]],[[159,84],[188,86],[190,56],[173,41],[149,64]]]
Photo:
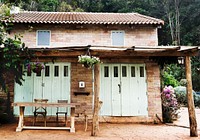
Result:
[[187,99],[188,99],[188,114],[190,122],[190,136],[198,137],[197,121],[195,115],[194,99],[192,93],[192,74],[191,74],[191,62],[190,56],[185,57],[185,72],[187,79]]

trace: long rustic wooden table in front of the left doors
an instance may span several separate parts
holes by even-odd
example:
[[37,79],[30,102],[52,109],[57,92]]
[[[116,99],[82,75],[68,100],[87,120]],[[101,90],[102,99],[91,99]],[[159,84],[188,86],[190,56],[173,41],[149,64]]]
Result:
[[[67,129],[70,132],[75,132],[75,108],[77,103],[34,103],[34,102],[16,102],[13,103],[13,106],[19,106],[19,123],[16,128],[16,132],[21,132],[22,129]],[[25,126],[24,125],[24,110],[27,106],[33,107],[70,107],[71,116],[70,116],[70,127],[42,127],[42,126]]]

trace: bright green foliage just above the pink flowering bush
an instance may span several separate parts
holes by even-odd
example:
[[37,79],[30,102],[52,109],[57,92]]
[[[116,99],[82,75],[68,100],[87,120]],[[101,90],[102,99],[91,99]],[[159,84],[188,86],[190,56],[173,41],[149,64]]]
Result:
[[163,81],[164,85],[171,85],[173,87],[176,87],[179,85],[179,82],[173,77],[173,75],[164,72],[163,74]]

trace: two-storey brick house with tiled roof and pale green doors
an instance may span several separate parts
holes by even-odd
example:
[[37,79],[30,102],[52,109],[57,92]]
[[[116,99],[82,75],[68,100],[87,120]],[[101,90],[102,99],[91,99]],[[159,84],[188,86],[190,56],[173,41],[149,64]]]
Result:
[[[149,58],[166,56],[166,50],[173,55],[177,50],[158,46],[162,20],[137,13],[22,12],[15,14],[12,22],[11,35],[22,35],[26,46],[35,51],[33,62],[45,63],[40,74],[24,76],[23,86],[15,84],[13,102],[67,99],[85,104],[91,114],[92,69],[77,62],[79,55],[90,51],[103,62],[98,65],[100,79],[95,85],[103,101],[101,121],[153,122],[157,115],[162,118],[159,65]],[[32,112],[28,108],[25,115]],[[55,115],[53,108],[47,112]],[[18,113],[14,108],[14,114]]]

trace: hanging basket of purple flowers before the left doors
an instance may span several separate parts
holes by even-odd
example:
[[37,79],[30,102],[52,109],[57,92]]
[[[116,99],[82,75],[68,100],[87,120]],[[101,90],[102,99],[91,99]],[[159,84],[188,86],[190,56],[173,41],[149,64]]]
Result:
[[44,64],[40,62],[28,63],[27,70],[28,72],[33,71],[34,73],[39,73],[41,70],[44,69]]

